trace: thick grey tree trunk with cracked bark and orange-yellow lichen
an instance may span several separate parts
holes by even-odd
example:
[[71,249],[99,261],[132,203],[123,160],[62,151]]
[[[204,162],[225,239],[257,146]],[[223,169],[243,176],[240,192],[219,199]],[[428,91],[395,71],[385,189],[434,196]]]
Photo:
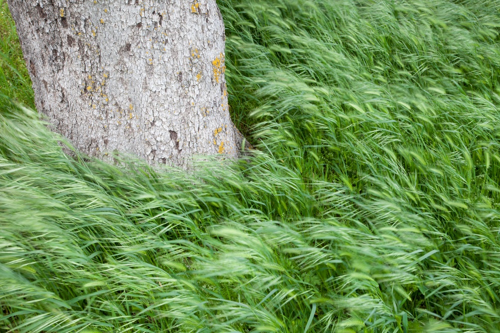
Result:
[[236,157],[215,0],[8,0],[38,111],[80,151]]

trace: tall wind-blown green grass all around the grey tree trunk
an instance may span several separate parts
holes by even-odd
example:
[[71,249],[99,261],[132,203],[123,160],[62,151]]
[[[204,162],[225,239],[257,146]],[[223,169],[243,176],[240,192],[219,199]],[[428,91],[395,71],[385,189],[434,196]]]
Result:
[[251,158],[72,159],[1,100],[0,332],[500,332],[500,2],[218,3]]

